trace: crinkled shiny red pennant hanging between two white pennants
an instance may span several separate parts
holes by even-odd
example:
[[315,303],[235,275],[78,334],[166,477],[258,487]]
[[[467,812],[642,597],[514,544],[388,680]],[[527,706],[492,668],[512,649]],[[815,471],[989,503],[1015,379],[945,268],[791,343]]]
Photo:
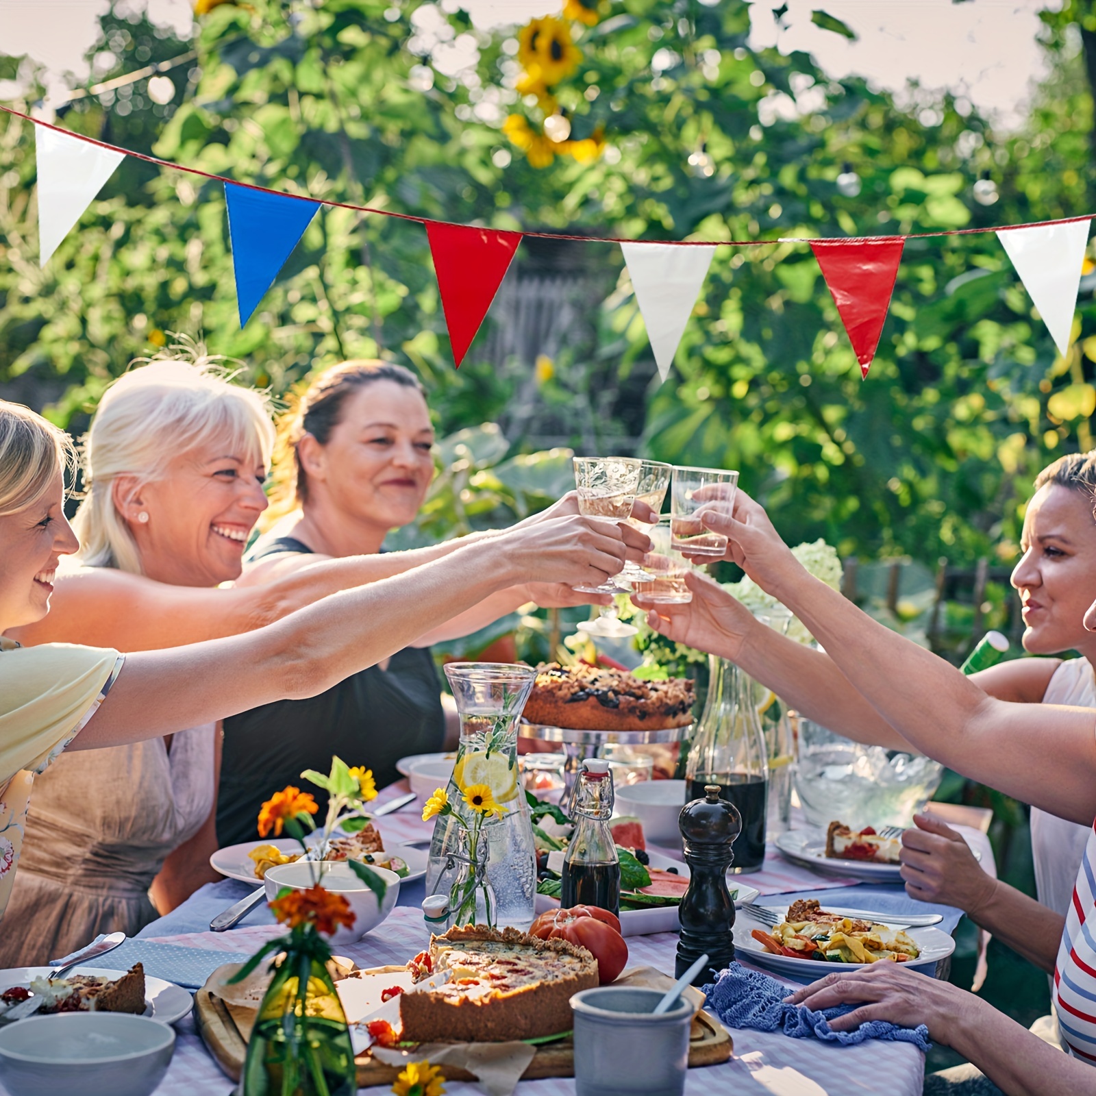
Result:
[[901,236],[811,241],[864,377],[876,356],[904,243]]

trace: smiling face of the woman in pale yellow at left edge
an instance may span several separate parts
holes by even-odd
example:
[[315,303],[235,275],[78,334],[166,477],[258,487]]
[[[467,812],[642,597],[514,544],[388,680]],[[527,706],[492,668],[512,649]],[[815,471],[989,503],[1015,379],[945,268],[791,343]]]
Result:
[[37,502],[0,516],[0,632],[49,612],[57,561],[80,547],[65,517],[64,492],[58,470]]

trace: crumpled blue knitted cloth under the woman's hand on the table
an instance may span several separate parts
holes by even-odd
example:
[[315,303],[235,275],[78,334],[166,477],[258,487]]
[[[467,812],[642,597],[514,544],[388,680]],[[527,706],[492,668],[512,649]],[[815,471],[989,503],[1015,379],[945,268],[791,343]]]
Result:
[[850,1013],[855,1005],[837,1005],[820,1013],[804,1005],[788,1005],[784,998],[791,992],[775,978],[757,970],[732,962],[719,972],[715,983],[703,987],[708,1007],[732,1028],[755,1028],[758,1031],[783,1031],[792,1039],[823,1039],[853,1046],[865,1039],[888,1039],[893,1042],[912,1042],[920,1050],[927,1051],[928,1028],[924,1024],[915,1028],[901,1028],[889,1020],[868,1020],[855,1031],[834,1031],[830,1020]]

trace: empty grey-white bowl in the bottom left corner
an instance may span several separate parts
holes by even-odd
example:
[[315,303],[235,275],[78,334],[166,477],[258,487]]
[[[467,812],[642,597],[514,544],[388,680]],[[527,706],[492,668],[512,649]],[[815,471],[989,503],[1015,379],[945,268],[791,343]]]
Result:
[[146,1016],[31,1016],[0,1029],[0,1076],[11,1096],[149,1096],[174,1049],[174,1030]]

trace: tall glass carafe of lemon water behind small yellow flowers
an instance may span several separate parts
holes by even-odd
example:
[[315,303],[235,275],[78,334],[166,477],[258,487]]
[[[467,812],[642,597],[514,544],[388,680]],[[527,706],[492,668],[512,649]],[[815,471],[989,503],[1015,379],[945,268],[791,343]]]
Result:
[[434,824],[426,893],[449,899],[447,924],[525,929],[536,903],[536,847],[521,769],[517,720],[535,671],[502,662],[445,667],[460,717],[460,745]]

